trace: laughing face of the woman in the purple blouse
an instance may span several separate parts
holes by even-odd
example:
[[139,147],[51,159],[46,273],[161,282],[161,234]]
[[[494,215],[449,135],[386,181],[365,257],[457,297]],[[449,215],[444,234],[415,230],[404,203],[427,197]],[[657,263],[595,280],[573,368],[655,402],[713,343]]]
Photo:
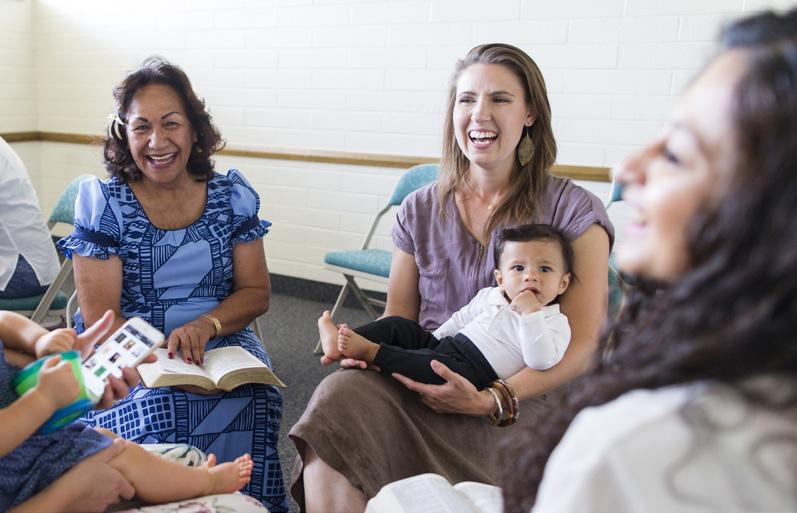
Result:
[[501,64],[473,64],[457,80],[454,133],[472,166],[512,169],[524,126],[534,116],[518,77]]

